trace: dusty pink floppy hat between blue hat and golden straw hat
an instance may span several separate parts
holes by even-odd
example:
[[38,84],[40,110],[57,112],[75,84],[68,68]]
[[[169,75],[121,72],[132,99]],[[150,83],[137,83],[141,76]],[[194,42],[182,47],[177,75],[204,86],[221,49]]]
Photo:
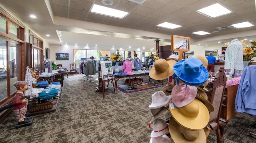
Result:
[[186,106],[195,99],[196,93],[196,86],[175,85],[172,88],[172,102],[176,107]]

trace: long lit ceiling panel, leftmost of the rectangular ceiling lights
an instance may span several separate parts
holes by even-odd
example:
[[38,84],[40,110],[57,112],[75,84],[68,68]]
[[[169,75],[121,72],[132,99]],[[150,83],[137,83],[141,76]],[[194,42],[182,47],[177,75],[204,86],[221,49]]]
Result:
[[123,12],[121,10],[115,10],[113,8],[107,8],[105,6],[100,6],[94,4],[91,10],[92,13],[101,14],[105,16],[112,16],[115,18],[124,18],[128,12]]

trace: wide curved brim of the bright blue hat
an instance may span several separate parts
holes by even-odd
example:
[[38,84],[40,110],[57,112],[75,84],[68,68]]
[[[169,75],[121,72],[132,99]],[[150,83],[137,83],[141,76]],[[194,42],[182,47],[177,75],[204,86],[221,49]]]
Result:
[[180,64],[180,63],[182,63],[184,61],[185,60],[180,60],[174,65],[173,70],[174,70],[174,73],[176,74],[176,76],[188,85],[191,85],[191,86],[203,85],[209,77],[208,76],[209,73],[208,73],[207,69],[204,66],[202,66],[202,71],[200,72],[200,74],[197,77],[181,76],[180,74],[182,72],[180,72],[180,71],[182,71],[183,69],[182,69],[182,64]]

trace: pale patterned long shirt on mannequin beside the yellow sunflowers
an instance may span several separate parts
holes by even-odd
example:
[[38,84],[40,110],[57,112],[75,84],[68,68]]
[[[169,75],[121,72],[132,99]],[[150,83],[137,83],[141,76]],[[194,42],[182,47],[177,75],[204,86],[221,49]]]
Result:
[[225,51],[224,69],[230,69],[230,74],[233,74],[235,69],[244,70],[243,45],[238,39],[230,41]]

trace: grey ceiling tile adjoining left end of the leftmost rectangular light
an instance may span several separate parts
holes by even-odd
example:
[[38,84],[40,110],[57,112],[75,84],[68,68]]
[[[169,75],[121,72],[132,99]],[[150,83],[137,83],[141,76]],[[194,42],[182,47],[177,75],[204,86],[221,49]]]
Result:
[[69,7],[77,10],[84,9],[86,12],[89,12],[92,7],[92,3],[82,2],[80,0],[70,0]]

